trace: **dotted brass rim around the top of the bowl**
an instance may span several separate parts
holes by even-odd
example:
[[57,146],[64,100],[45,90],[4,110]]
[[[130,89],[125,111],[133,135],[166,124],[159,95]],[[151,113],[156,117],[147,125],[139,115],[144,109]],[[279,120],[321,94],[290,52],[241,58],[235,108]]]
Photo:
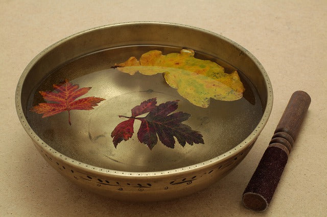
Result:
[[[220,38],[221,40],[227,41],[228,43],[231,43],[232,45],[236,46],[241,52],[243,52],[245,55],[247,55],[253,63],[260,69],[262,75],[264,76],[265,79],[265,85],[267,86],[267,104],[265,107],[265,110],[263,111],[262,118],[260,119],[259,123],[256,125],[256,127],[253,129],[253,131],[248,135],[247,138],[245,138],[241,143],[239,143],[237,146],[233,147],[232,149],[228,150],[227,152],[216,156],[212,159],[205,160],[203,162],[199,162],[194,165],[186,166],[186,167],[181,167],[181,168],[175,168],[175,169],[170,169],[170,170],[164,170],[164,171],[154,171],[154,172],[129,172],[129,171],[117,171],[117,170],[110,170],[106,168],[100,168],[96,166],[92,166],[89,164],[86,164],[84,162],[78,161],[76,159],[73,159],[71,157],[68,157],[64,154],[61,154],[60,152],[54,150],[51,146],[46,144],[45,142],[42,141],[41,138],[38,137],[38,135],[34,132],[34,130],[30,127],[24,113],[22,112],[22,105],[21,105],[21,91],[22,91],[22,85],[25,82],[26,76],[31,70],[31,68],[34,66],[35,63],[39,61],[46,53],[48,53],[50,50],[55,48],[56,46],[59,46],[61,43],[64,43],[68,40],[73,39],[74,37],[78,37],[82,34],[85,34],[87,32],[91,31],[97,31],[99,29],[103,28],[111,28],[113,26],[118,26],[118,25],[131,25],[131,24],[156,24],[156,25],[173,25],[173,26],[179,26],[182,28],[190,28],[194,29],[197,31],[204,32],[206,34],[211,34],[214,35],[215,37]],[[113,176],[118,176],[118,177],[161,177],[161,176],[167,176],[167,175],[172,175],[172,174],[180,174],[180,173],[188,173],[190,171],[194,172],[194,170],[202,170],[202,169],[208,169],[208,168],[213,168],[215,165],[219,164],[220,162],[224,161],[227,158],[230,158],[230,156],[236,156],[242,151],[246,150],[247,148],[250,148],[253,146],[255,140],[259,137],[259,134],[263,130],[264,126],[268,122],[269,116],[272,111],[272,104],[273,104],[273,91],[272,91],[272,85],[270,82],[270,79],[268,77],[268,74],[262,64],[259,62],[258,59],[256,59],[252,53],[250,53],[247,49],[239,45],[238,43],[222,36],[217,33],[207,31],[201,28],[197,28],[195,26],[191,25],[185,25],[185,24],[178,24],[178,23],[171,23],[171,22],[157,22],[157,21],[133,21],[133,22],[121,22],[121,23],[113,23],[113,24],[107,24],[107,25],[101,25],[95,28],[87,29],[84,31],[81,31],[79,33],[67,36],[54,44],[50,45],[49,47],[46,47],[44,50],[38,53],[37,56],[35,56],[31,62],[26,66],[24,71],[22,72],[18,83],[16,87],[16,92],[15,92],[15,105],[16,105],[16,112],[19,118],[19,121],[22,125],[22,127],[25,129],[25,131],[28,133],[29,137],[32,139],[33,143],[38,146],[42,151],[51,154],[52,156],[59,158],[65,164],[71,165],[73,167],[78,167],[80,169],[83,169],[84,171],[87,172],[93,172],[93,173],[98,173],[102,175],[113,175]]]

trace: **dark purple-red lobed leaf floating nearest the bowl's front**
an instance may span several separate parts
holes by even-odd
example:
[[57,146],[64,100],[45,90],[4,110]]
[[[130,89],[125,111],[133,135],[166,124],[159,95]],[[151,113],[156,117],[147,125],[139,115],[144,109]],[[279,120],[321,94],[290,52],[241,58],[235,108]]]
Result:
[[[119,116],[128,118],[128,120],[118,124],[111,132],[114,147],[123,140],[129,140],[133,133],[134,120],[141,121],[141,126],[137,132],[139,142],[146,144],[150,150],[157,144],[158,138],[162,144],[167,147],[174,148],[175,139],[181,146],[186,143],[193,145],[202,143],[202,135],[198,131],[181,122],[188,120],[191,115],[184,112],[173,113],[177,110],[178,100],[168,101],[156,105],[156,98],[148,99],[140,105],[132,108],[132,116]],[[148,113],[145,117],[137,117]]]

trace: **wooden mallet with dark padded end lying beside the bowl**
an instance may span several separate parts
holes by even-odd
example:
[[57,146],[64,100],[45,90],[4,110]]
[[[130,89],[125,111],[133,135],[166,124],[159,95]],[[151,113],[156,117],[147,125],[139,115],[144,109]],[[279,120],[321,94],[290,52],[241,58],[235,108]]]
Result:
[[296,91],[291,96],[269,146],[243,193],[243,204],[247,208],[255,211],[268,208],[310,102],[310,96],[303,91]]

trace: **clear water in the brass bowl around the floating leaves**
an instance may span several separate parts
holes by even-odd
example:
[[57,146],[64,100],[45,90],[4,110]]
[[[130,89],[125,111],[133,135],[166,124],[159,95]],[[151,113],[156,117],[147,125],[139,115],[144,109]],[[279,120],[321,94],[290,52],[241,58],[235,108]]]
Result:
[[[143,53],[158,49],[164,54],[179,52],[180,47],[125,46],[89,53],[69,61],[44,77],[30,96],[29,107],[45,102],[39,91],[52,91],[54,84],[65,79],[82,87],[92,87],[81,96],[95,96],[106,100],[94,110],[72,110],[68,124],[67,112],[41,118],[42,115],[28,112],[28,121],[36,134],[57,152],[86,164],[110,170],[148,172],[170,170],[209,160],[241,143],[253,131],[262,117],[262,104],[253,85],[240,71],[245,86],[244,97],[236,101],[211,100],[209,107],[202,108],[182,98],[176,89],[165,82],[162,74],[131,76],[111,68],[115,63],[129,57],[139,58]],[[236,70],[226,62],[205,53],[196,52],[195,57],[211,60],[225,67],[225,72]],[[186,144],[176,140],[175,148],[168,148],[158,141],[152,150],[137,138],[141,121],[134,123],[134,134],[115,148],[111,132],[120,122],[131,116],[131,109],[141,102],[157,98],[157,104],[179,100],[176,112],[191,114],[184,121],[193,130],[203,135],[204,144]],[[145,114],[146,115],[146,114]]]

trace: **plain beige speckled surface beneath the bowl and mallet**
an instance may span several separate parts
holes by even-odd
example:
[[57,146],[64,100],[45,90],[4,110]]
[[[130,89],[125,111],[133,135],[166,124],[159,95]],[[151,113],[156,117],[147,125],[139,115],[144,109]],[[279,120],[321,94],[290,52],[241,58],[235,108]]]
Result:
[[[57,2],[57,3],[55,3]],[[216,32],[247,48],[274,91],[270,119],[244,161],[216,184],[166,202],[90,194],[45,164],[18,121],[14,92],[44,48],[95,26],[167,21]],[[0,1],[0,216],[327,216],[327,1]],[[267,211],[241,196],[291,94],[312,103]]]

